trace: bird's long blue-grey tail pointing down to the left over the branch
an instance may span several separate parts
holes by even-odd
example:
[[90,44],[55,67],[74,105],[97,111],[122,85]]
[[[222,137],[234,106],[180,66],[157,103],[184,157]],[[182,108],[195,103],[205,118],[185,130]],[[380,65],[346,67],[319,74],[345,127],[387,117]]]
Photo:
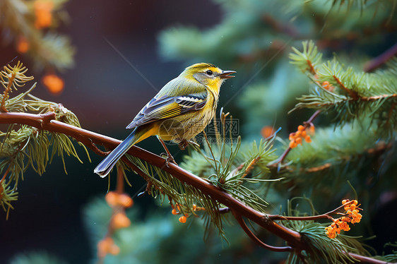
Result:
[[139,136],[136,135],[136,128],[134,131],[129,134],[129,136],[124,139],[122,143],[120,143],[117,148],[115,148],[112,152],[109,153],[105,157],[100,164],[94,169],[96,174],[99,174],[102,178],[105,178],[107,174],[112,170],[114,165],[117,163],[118,160],[124,155],[129,148],[135,143],[138,143],[138,140],[141,139]]

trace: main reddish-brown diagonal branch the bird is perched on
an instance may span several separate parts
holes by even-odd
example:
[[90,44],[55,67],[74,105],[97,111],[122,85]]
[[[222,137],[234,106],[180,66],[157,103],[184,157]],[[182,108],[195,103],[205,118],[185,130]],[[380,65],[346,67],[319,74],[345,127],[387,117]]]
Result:
[[[71,136],[76,140],[80,141],[88,148],[93,149],[97,152],[96,145],[103,145],[105,148],[113,149],[116,148],[120,140],[103,136],[101,134],[95,133],[93,131],[88,131],[83,128],[78,128],[76,126],[71,126],[69,124],[62,123],[60,121],[49,118],[49,114],[27,114],[27,113],[0,113],[0,124],[25,124],[28,126],[34,126],[38,129],[63,133],[66,136]],[[310,121],[311,119],[309,119]],[[309,122],[308,121],[308,122]],[[259,226],[267,229],[269,232],[279,236],[281,239],[285,240],[288,245],[295,249],[295,251],[302,251],[308,246],[304,241],[301,240],[299,232],[283,227],[282,225],[271,220],[267,215],[261,212],[249,208],[247,205],[237,200],[236,198],[224,193],[220,188],[217,188],[213,184],[204,181],[198,176],[187,172],[186,170],[178,167],[175,164],[169,163],[167,166],[166,160],[162,157],[155,155],[151,152],[132,146],[128,153],[134,157],[138,157],[149,164],[163,169],[165,172],[172,174],[175,178],[179,179],[186,184],[198,188],[202,193],[211,196],[214,200],[218,200],[219,203],[227,206],[233,212],[236,212],[242,217],[247,217],[249,220],[259,224]],[[349,253],[350,254],[350,253]],[[350,254],[351,255],[351,254]],[[362,257],[364,258],[364,257]],[[370,258],[369,258],[370,259]],[[379,260],[374,260],[372,263]],[[381,262],[386,263],[386,262]]]

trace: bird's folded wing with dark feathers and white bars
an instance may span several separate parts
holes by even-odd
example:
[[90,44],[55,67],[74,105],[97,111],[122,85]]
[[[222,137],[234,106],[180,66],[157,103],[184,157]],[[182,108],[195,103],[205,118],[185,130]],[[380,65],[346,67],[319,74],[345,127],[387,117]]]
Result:
[[[172,83],[167,83],[158,95],[141,109],[141,112],[135,116],[134,120],[126,128],[134,128],[160,119],[169,119],[179,114],[197,111],[206,104],[207,90],[205,87],[201,89],[197,87],[195,89],[181,87],[184,89],[179,90],[179,92],[172,90],[172,95],[167,95],[167,88],[169,88],[167,86],[170,84]],[[178,89],[178,86],[173,87]],[[176,95],[178,93],[179,95]]]

